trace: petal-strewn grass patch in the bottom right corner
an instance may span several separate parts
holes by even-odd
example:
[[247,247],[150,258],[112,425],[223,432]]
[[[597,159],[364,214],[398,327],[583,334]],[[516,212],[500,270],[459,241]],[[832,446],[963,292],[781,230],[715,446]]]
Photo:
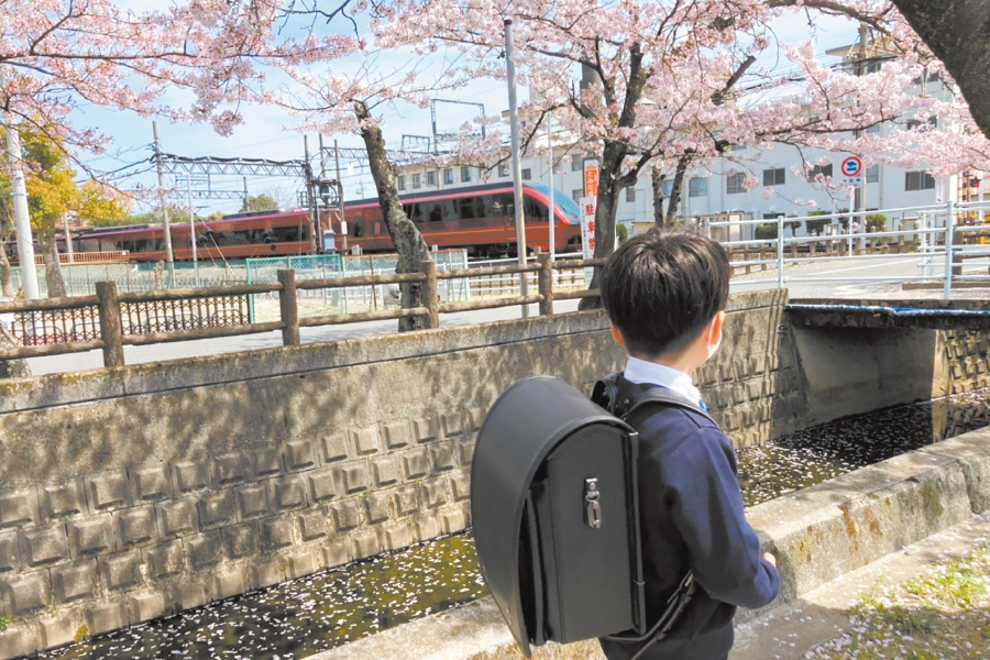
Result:
[[935,562],[901,584],[881,584],[849,609],[851,631],[809,658],[983,660],[990,658],[990,543]]

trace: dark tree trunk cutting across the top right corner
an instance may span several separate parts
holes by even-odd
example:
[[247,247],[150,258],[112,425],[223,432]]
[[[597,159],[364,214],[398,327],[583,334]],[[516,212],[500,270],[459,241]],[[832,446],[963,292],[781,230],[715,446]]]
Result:
[[990,3],[986,0],[893,0],[959,85],[969,111],[990,135]]

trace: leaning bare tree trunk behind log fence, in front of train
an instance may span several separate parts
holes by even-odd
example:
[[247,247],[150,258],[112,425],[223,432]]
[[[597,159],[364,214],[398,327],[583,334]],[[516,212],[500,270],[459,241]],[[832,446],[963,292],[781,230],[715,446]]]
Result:
[[[392,237],[392,242],[398,252],[396,273],[418,273],[419,264],[430,257],[430,249],[427,246],[422,234],[416,226],[406,218],[403,202],[399,199],[398,188],[395,185],[395,166],[388,162],[385,153],[385,140],[382,130],[371,122],[371,111],[364,103],[354,103],[354,113],[362,122],[361,138],[367,150],[369,169],[375,182],[378,193],[378,205],[382,207],[382,218],[385,220],[385,229]],[[403,308],[421,307],[424,305],[424,287],[420,283],[403,284]],[[399,332],[407,330],[421,330],[422,317],[404,317],[399,319]]]

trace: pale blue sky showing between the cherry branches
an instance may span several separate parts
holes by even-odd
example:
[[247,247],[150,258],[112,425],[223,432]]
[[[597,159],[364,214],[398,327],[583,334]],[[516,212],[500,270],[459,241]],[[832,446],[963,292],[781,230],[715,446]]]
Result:
[[[779,34],[794,34],[795,38],[803,41],[809,35],[807,19],[803,14],[791,14],[779,19],[773,24]],[[822,19],[815,21],[817,51],[824,52],[836,46],[851,43],[856,40],[856,25],[849,21],[839,19]],[[405,56],[397,56],[396,64],[405,61]],[[829,61],[826,61],[829,62]],[[388,61],[383,63],[387,66]],[[336,70],[346,70],[349,63],[334,63]],[[442,66],[438,59],[437,66]],[[790,63],[783,57],[769,55],[757,63],[757,66],[773,68],[781,73],[790,69]],[[277,79],[272,80],[273,84]],[[527,97],[527,90],[518,91],[520,102]],[[443,95],[440,95],[443,99]],[[449,97],[447,97],[449,99]],[[175,96],[166,99],[169,102],[180,102],[183,98]],[[508,109],[508,91],[506,84],[499,80],[476,80],[471,86],[457,94],[459,101],[483,103],[485,112],[490,116],[501,116]],[[209,124],[174,124],[165,119],[157,119],[158,136],[162,151],[183,156],[220,156],[220,157],[248,157],[268,158],[274,161],[300,160],[304,157],[304,133],[298,130],[298,119],[287,111],[275,107],[245,106],[240,109],[244,122],[234,129],[231,136],[224,138],[216,132]],[[438,102],[436,105],[438,131],[455,131],[463,122],[477,114],[477,110],[471,106]],[[398,148],[403,135],[428,136],[431,134],[430,109],[419,109],[409,105],[395,105],[378,112],[385,120],[384,134],[391,148]],[[152,118],[139,117],[134,112],[111,111],[99,107],[81,107],[77,111],[74,121],[78,125],[95,127],[113,138],[113,144],[102,157],[84,160],[88,165],[98,170],[111,172],[127,168],[125,172],[134,173],[123,179],[116,180],[121,189],[134,189],[139,187],[153,188],[157,185],[154,166],[146,161],[153,155]],[[319,144],[319,135],[309,132],[307,135],[309,153],[315,166],[319,160],[316,157]],[[358,135],[340,134],[324,135],[323,145],[332,147],[333,140],[338,140],[341,146],[362,147]],[[136,164],[136,165],[135,165]],[[360,163],[342,160],[342,180],[344,182],[345,199],[370,197],[374,194],[374,186],[366,168]],[[132,167],[128,167],[131,166]],[[332,170],[333,160],[328,161],[331,168],[329,176],[336,177]],[[241,177],[213,177],[210,182],[212,189],[243,190],[244,182]],[[297,194],[302,188],[301,180],[286,177],[249,177],[246,182],[251,195],[267,194],[275,197],[283,208],[290,208],[296,202]],[[176,182],[173,177],[166,177],[166,186],[174,186],[183,193],[186,189],[185,182]],[[194,184],[194,187],[206,187],[205,183]],[[182,199],[175,199],[178,205],[185,205],[185,194]],[[213,211],[235,212],[240,202],[234,200],[194,200],[198,211],[208,215]],[[148,209],[145,204],[134,206],[134,212]]]

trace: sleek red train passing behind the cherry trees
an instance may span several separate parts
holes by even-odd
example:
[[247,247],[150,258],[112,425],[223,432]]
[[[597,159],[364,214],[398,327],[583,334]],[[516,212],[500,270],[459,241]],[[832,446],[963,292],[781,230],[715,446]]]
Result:
[[[550,248],[549,189],[541,185],[522,187],[526,217],[526,244],[531,252]],[[440,249],[464,248],[469,256],[497,257],[516,254],[516,228],[512,184],[488,184],[450,190],[416,193],[402,197],[406,215],[427,244]],[[554,190],[554,250],[581,249],[579,207],[560,190]],[[360,245],[362,252],[394,251],[382,219],[377,199],[346,204],[348,250]],[[342,248],[337,215],[320,216],[321,232],[332,229],[336,248]],[[265,211],[228,216],[222,220],[196,223],[196,253],[200,260],[245,258],[307,254],[310,252],[309,216],[306,211]],[[59,239],[59,243],[63,240]],[[165,260],[165,231],[161,224],[141,224],[82,230],[73,238],[76,252],[127,250],[131,261]],[[172,246],[176,261],[193,258],[189,223],[175,218]],[[16,260],[16,244],[7,243],[8,254]]]

